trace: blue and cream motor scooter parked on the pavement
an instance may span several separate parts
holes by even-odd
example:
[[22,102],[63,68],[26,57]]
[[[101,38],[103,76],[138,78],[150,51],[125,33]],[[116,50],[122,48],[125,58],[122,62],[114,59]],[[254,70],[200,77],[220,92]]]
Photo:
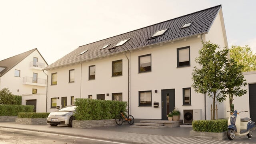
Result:
[[[230,111],[227,111],[230,112]],[[248,112],[248,111],[241,111]],[[251,118],[240,118],[237,110],[231,112],[230,117],[228,118],[228,139],[233,140],[235,136],[247,136],[247,138],[252,137],[252,131],[255,129],[255,122]]]

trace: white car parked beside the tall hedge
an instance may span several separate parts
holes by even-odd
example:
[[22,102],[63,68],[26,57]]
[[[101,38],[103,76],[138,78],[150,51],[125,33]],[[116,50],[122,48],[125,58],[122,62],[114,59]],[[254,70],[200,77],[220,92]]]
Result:
[[72,127],[72,121],[74,120],[74,111],[77,106],[71,105],[61,108],[56,112],[51,112],[48,115],[46,120],[47,124],[50,126],[57,126],[58,124],[68,124],[68,126]]

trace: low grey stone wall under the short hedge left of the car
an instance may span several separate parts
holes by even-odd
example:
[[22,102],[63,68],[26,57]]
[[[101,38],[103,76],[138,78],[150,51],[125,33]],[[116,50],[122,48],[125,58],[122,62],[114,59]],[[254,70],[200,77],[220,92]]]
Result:
[[17,124],[46,124],[46,118],[16,118]]

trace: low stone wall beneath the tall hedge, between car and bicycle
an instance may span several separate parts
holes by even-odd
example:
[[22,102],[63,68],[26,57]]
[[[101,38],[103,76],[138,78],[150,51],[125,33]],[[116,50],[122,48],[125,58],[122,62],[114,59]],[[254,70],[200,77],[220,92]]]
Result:
[[73,120],[73,128],[95,128],[102,126],[115,126],[116,121],[111,120]]

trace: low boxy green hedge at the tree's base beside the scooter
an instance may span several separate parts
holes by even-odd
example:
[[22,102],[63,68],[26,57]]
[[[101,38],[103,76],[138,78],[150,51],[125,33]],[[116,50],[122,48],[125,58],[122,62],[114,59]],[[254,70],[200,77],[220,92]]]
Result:
[[228,120],[194,120],[192,127],[196,132],[224,132],[228,130]]

